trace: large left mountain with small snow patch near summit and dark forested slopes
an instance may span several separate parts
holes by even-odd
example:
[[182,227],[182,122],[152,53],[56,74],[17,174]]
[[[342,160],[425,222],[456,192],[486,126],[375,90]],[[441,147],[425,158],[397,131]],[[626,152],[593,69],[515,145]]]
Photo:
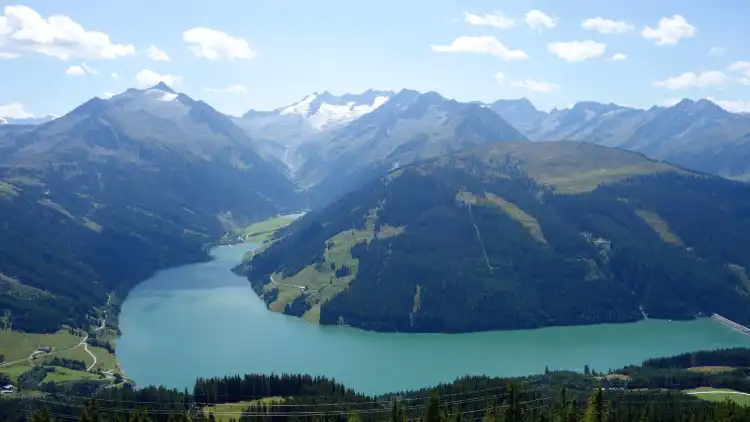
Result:
[[0,130],[0,309],[14,329],[86,316],[233,225],[298,209],[227,117],[160,84]]

